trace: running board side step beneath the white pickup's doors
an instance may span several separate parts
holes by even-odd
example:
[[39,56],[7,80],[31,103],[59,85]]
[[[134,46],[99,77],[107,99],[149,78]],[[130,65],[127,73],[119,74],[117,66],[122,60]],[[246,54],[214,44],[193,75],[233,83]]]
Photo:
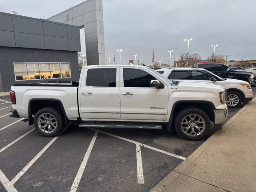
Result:
[[135,129],[162,129],[162,125],[138,123],[113,123],[113,122],[81,122],[79,127],[96,128],[135,128]]

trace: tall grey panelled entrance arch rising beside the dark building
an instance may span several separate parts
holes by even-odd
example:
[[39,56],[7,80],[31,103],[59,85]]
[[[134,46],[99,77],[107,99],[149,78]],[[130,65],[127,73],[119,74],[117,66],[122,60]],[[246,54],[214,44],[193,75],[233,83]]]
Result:
[[84,28],[87,65],[105,64],[102,0],[87,0],[47,20]]

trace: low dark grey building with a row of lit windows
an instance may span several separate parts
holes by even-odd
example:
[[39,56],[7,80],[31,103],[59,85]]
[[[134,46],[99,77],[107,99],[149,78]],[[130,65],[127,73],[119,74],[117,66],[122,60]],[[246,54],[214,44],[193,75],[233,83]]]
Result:
[[12,84],[78,80],[78,26],[0,12],[0,91]]

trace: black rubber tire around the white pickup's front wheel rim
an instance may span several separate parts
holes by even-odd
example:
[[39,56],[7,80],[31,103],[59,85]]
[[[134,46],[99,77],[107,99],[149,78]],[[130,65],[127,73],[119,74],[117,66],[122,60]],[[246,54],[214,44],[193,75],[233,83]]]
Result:
[[[199,130],[196,128],[196,126],[192,128],[192,126],[190,126],[190,124],[187,124],[187,125],[185,124],[185,126],[190,126],[190,128],[189,128],[190,131],[188,131],[187,134],[183,132],[184,128],[182,129],[182,123],[183,123],[182,120],[186,116],[191,115],[191,114],[200,116],[204,120],[205,128],[204,128],[204,130],[202,130],[202,132],[199,132]],[[197,120],[197,119],[195,119],[195,120]],[[182,138],[184,138],[186,140],[193,140],[193,141],[201,140],[201,139],[205,138],[206,136],[208,136],[208,134],[210,132],[210,118],[203,110],[198,109],[198,108],[187,108],[187,109],[181,110],[175,118],[175,130]],[[193,132],[193,130],[196,132],[196,134],[192,133],[189,136],[188,134]]]

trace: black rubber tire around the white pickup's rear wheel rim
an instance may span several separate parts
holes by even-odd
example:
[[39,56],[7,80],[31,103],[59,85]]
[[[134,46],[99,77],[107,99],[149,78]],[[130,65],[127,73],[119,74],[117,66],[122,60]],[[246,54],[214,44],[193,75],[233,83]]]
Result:
[[[51,116],[49,116],[47,114],[50,114]],[[46,119],[48,119],[48,117],[49,117],[49,119],[54,117],[54,119],[47,120],[47,122],[45,122],[45,121],[42,121],[42,120],[44,120],[44,117],[41,115],[43,115],[43,116],[46,115],[45,116]],[[40,119],[38,119],[39,117],[40,117]],[[41,124],[40,123],[38,124],[38,121],[41,122]],[[49,123],[49,124],[47,124],[47,123]],[[43,128],[44,125],[46,125],[45,131],[42,130],[42,129],[44,129]],[[54,137],[65,126],[64,116],[63,116],[62,112],[60,112],[60,110],[58,110],[54,107],[42,108],[38,112],[36,112],[36,114],[34,116],[34,126],[35,126],[36,130],[43,136]],[[49,126],[50,126],[50,128],[49,128]],[[48,132],[47,132],[47,130],[48,130]]]

